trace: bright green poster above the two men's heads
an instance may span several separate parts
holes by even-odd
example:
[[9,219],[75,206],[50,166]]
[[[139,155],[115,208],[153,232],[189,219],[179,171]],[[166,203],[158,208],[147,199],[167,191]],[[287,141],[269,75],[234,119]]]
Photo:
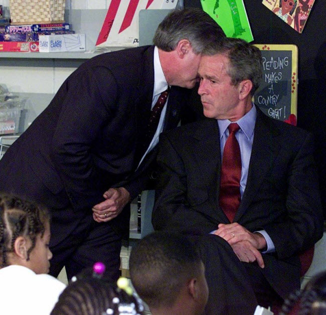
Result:
[[201,0],[203,10],[223,29],[227,37],[253,41],[243,0]]

